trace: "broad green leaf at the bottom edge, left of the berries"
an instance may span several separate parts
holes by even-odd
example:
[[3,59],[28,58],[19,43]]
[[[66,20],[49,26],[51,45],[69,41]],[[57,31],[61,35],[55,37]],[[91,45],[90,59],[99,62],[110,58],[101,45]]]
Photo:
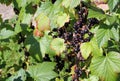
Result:
[[50,81],[57,74],[53,71],[55,63],[43,62],[37,65],[30,66],[27,72],[35,81]]

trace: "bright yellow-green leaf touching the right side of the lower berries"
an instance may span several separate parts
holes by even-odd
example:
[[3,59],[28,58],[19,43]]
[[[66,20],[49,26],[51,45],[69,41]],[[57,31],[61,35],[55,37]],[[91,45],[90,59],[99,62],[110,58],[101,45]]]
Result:
[[90,54],[94,57],[102,56],[102,48],[98,47],[95,38],[93,38],[90,42],[82,43],[80,49],[81,54],[85,59],[87,59]]

